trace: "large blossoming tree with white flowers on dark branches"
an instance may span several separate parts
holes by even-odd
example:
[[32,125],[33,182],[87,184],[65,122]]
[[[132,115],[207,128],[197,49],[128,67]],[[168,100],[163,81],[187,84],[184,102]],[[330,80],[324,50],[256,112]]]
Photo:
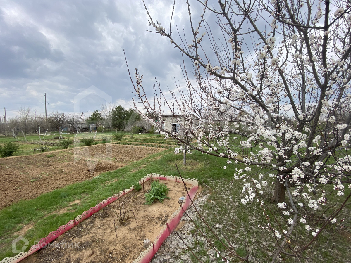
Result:
[[[135,96],[146,111],[140,113],[189,149],[226,158],[224,168],[245,164],[234,174],[243,181],[244,204],[263,205],[258,198],[267,189],[266,177],[274,178],[273,200],[284,210],[286,196],[292,208],[282,212],[291,227],[272,228],[276,238],[284,237],[274,261],[294,225],[306,223],[300,208],[318,212],[325,222],[320,229],[306,225],[312,242],[350,198],[345,194],[351,180],[350,2],[198,1],[198,22],[186,2],[189,31],[177,34],[173,11],[166,29],[144,3],[153,32],[190,59],[194,77],[184,62],[185,86],[178,84],[177,94],[166,99],[158,82],[150,103],[136,70]],[[191,140],[163,128],[164,108],[183,116],[181,126]],[[159,116],[152,119],[150,112]],[[240,154],[241,149],[250,151]],[[249,175],[254,166],[264,169]],[[327,191],[339,197],[339,205],[323,215],[334,205]]]

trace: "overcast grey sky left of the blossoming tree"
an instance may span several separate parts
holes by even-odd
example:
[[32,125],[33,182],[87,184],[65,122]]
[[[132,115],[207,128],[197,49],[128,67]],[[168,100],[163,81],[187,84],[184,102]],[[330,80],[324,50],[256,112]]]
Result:
[[[181,78],[179,51],[147,32],[151,27],[139,0],[0,3],[1,119],[4,107],[7,117],[20,107],[45,114],[44,93],[48,112],[75,110],[86,116],[109,100],[129,108],[133,90],[123,49],[129,67],[144,74],[146,89],[151,91],[154,77],[165,89]],[[146,3],[168,28],[172,1]],[[185,4],[177,3],[174,25],[186,23]]]

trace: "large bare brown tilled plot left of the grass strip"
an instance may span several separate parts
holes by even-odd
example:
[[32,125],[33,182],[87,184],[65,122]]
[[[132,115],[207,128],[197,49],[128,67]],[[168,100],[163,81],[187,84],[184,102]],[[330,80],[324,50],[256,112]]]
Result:
[[110,143],[1,158],[0,208],[89,180],[163,150]]

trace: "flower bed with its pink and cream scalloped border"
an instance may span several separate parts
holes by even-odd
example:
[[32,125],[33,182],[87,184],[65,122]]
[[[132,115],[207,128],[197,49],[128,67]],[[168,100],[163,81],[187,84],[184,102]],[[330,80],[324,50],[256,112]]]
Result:
[[[167,181],[171,181],[171,182],[173,181],[173,182],[178,182],[178,183],[181,182],[181,179],[179,177],[173,177],[173,176],[172,177],[168,177],[168,176],[162,176],[162,175],[159,175],[159,174],[150,174],[150,175],[147,175],[144,178],[142,178],[139,181],[139,183],[142,183],[143,180],[145,182],[147,182],[150,179],[166,180],[165,181],[166,183],[167,183]],[[198,189],[197,180],[196,179],[185,179],[185,182],[187,184],[191,184],[192,185],[190,187],[190,189],[188,190],[188,192],[189,192],[191,198],[193,198],[195,196],[196,192],[197,192],[197,189]],[[146,183],[146,184],[148,184],[148,183]],[[184,186],[182,184],[179,184],[178,187],[183,189],[182,195],[186,195]],[[133,188],[130,188],[130,189],[126,190],[125,192],[118,193],[117,196],[120,196],[119,198],[121,198],[124,194],[130,193],[132,190],[133,190]],[[170,193],[171,192],[172,192],[172,188],[171,188]],[[139,193],[140,193],[141,196],[143,196],[142,191],[139,192]],[[134,195],[139,195],[139,194],[134,193]],[[128,225],[127,226],[123,226],[123,227],[118,227],[118,228],[120,228],[120,229],[128,228],[129,230],[131,230],[131,232],[125,233],[125,234],[123,234],[124,235],[123,236],[121,234],[122,230],[117,228],[118,229],[116,231],[117,232],[117,236],[120,234],[117,237],[117,239],[116,239],[116,236],[115,236],[114,227],[112,227],[113,223],[111,223],[111,222],[113,222],[113,219],[114,219],[113,217],[115,217],[115,216],[113,215],[111,208],[105,208],[109,204],[115,205],[115,204],[112,204],[116,200],[116,195],[114,195],[112,197],[107,198],[107,200],[104,200],[100,204],[97,204],[95,207],[89,209],[88,211],[85,211],[82,215],[80,215],[77,218],[75,218],[75,220],[71,220],[66,225],[61,226],[57,231],[51,232],[47,237],[42,238],[37,245],[33,246],[29,250],[28,253],[20,253],[17,256],[13,257],[13,258],[5,258],[5,259],[3,259],[1,261],[1,263],[3,263],[3,262],[4,263],[5,262],[6,263],[8,263],[8,262],[11,262],[11,263],[19,262],[22,259],[24,259],[24,258],[28,257],[29,255],[33,254],[34,252],[38,251],[39,249],[41,249],[43,247],[46,247],[48,244],[50,244],[49,245],[50,248],[53,248],[54,247],[53,241],[56,240],[58,237],[60,237],[61,235],[63,235],[65,232],[67,232],[68,230],[70,230],[72,228],[74,228],[74,230],[71,230],[70,232],[72,232],[72,231],[74,232],[75,231],[77,233],[77,234],[75,234],[75,236],[76,236],[76,240],[75,241],[73,241],[73,237],[72,237],[72,235],[69,235],[69,233],[67,233],[67,238],[68,238],[67,240],[63,240],[63,238],[60,237],[57,241],[64,242],[64,243],[65,242],[67,243],[68,241],[81,243],[83,248],[84,248],[84,246],[86,248],[88,248],[85,251],[85,254],[84,254],[86,257],[93,257],[93,255],[95,253],[96,253],[95,256],[98,256],[99,255],[98,251],[101,248],[102,248],[102,250],[105,249],[107,251],[107,250],[111,250],[112,247],[114,247],[114,246],[116,247],[118,244],[119,245],[122,244],[121,247],[124,246],[127,249],[126,250],[127,251],[127,255],[122,255],[121,256],[121,254],[119,254],[119,256],[118,256],[117,253],[116,253],[117,250],[113,251],[113,249],[112,249],[111,251],[108,251],[108,256],[110,258],[113,258],[114,256],[115,257],[119,257],[121,260],[123,259],[123,262],[125,262],[125,260],[127,260],[127,259],[130,260],[133,257],[132,255],[131,256],[128,255],[128,252],[130,250],[128,250],[128,248],[127,248],[128,246],[126,245],[126,242],[125,242],[127,240],[127,237],[132,237],[132,238],[129,239],[130,240],[129,243],[131,243],[131,240],[135,240],[135,241],[137,241],[139,243],[141,242],[139,244],[139,246],[138,246],[139,249],[142,249],[143,242],[141,241],[141,239],[148,238],[148,239],[150,239],[152,241],[152,244],[145,251],[141,252],[139,257],[137,259],[135,259],[134,262],[135,263],[136,262],[138,262],[138,263],[139,262],[149,262],[151,260],[151,258],[154,256],[154,254],[157,252],[157,250],[159,249],[161,244],[170,235],[170,233],[177,227],[177,225],[178,225],[178,223],[180,221],[180,218],[183,215],[183,211],[182,211],[181,207],[179,207],[179,204],[177,206],[178,198],[180,197],[178,195],[179,195],[179,193],[175,193],[175,195],[172,196],[172,198],[170,200],[165,200],[164,203],[162,203],[162,204],[161,203],[156,203],[156,204],[153,204],[151,206],[141,205],[141,207],[142,207],[141,210],[145,210],[144,216],[146,216],[146,218],[144,218],[144,222],[143,222],[143,219],[142,219],[143,217],[141,217],[141,218],[139,217],[138,218],[138,216],[135,215],[135,217],[137,218],[138,225],[140,224],[141,228],[136,226],[135,221],[133,221],[134,218],[133,218],[132,214],[130,214],[131,218],[130,218],[130,221],[128,222]],[[173,208],[172,208],[173,210],[172,211],[174,211],[174,210],[176,210],[176,211],[173,214],[171,213],[170,215],[166,215],[166,214],[164,215],[163,214],[163,210],[164,210],[163,208],[165,206],[170,205],[170,203],[168,203],[168,201],[169,202],[172,201],[173,203],[176,202],[176,207],[178,207],[178,208],[174,209],[176,207],[174,207],[174,204],[173,204]],[[137,201],[135,201],[135,202],[137,202]],[[183,202],[183,208],[186,209],[190,205],[190,203],[191,203],[191,201],[189,200],[188,196],[186,196],[185,201]],[[139,206],[140,206],[140,201],[139,201]],[[101,209],[103,209],[103,211],[100,211]],[[104,214],[105,209],[108,211],[107,213],[110,214],[110,219],[112,221],[111,220],[108,221],[107,218],[106,218],[106,219],[100,220],[99,222],[96,221],[96,222],[99,223],[99,225],[97,225],[96,222],[94,222],[94,218],[95,218],[95,220],[97,220],[96,217],[99,217],[99,215],[101,215],[101,213]],[[135,209],[135,211],[137,211],[137,208],[132,208],[132,210],[133,209]],[[90,221],[92,221],[92,223],[90,223],[90,221],[88,222],[88,220],[87,220],[86,224],[84,225],[84,223],[85,223],[85,222],[83,222],[84,220],[86,220],[87,218],[91,217],[92,215],[94,215],[95,213],[97,213],[99,211],[100,211],[100,214],[97,214],[94,217],[89,219]],[[134,211],[134,213],[135,213],[135,211]],[[151,223],[153,223],[153,224],[156,223],[156,225],[160,226],[160,231],[158,232],[159,234],[156,237],[152,237],[152,235],[150,235],[150,237],[148,237],[148,233],[149,233],[150,229],[146,230],[146,231],[144,230],[144,228],[146,228],[147,225],[151,226],[152,229],[155,229],[155,226],[151,225]],[[160,224],[160,223],[163,223],[163,224]],[[105,231],[105,233],[102,232],[102,236],[104,236],[104,235],[106,236],[107,234],[111,234],[111,232],[113,234],[111,236],[111,238],[108,238],[108,240],[109,240],[108,242],[107,242],[107,240],[104,240],[104,242],[100,242],[101,245],[100,245],[99,249],[98,248],[90,249],[90,246],[91,246],[90,242],[95,241],[94,238],[97,238],[97,240],[96,240],[97,242],[96,243],[99,243],[99,240],[98,240],[98,237],[97,237],[98,234],[95,234],[95,230],[96,229],[94,228],[95,230],[94,229],[88,230],[88,228],[87,228],[88,226],[91,226],[91,225],[93,225],[94,227],[97,227],[98,229],[101,228],[102,231]],[[162,227],[162,225],[163,225],[163,227]],[[102,226],[104,226],[105,228],[102,227]],[[118,226],[118,224],[117,224],[117,226]],[[80,238],[80,236],[78,235],[78,232],[79,232],[78,230],[89,232],[88,234],[90,234],[90,236],[93,235],[92,238],[91,238],[91,241],[87,240],[87,235],[85,235],[84,238],[83,238],[82,235],[80,235],[81,236],[81,238]],[[138,237],[136,237],[137,233],[139,233],[139,234],[141,233],[141,235],[138,235]],[[133,236],[133,234],[135,235],[135,237]],[[114,240],[112,239],[113,236],[115,238]],[[101,239],[100,239],[100,241],[101,241]],[[68,247],[68,248],[66,247],[65,249],[73,249],[74,250],[75,249],[74,246],[72,246],[72,247]],[[77,251],[79,251],[80,245],[78,245],[78,247],[79,248],[76,248]],[[136,247],[136,245],[131,244],[130,247],[134,248],[134,247]],[[55,249],[55,251],[58,251],[58,249]],[[115,252],[115,253],[113,253],[113,252]],[[65,255],[71,255],[71,252],[68,252],[68,250],[62,250],[62,256],[64,254]],[[116,254],[116,255],[114,255],[114,254]],[[36,255],[40,255],[40,253],[38,253]],[[33,256],[35,256],[35,255],[33,255]],[[51,258],[51,259],[53,259],[53,258]],[[92,258],[90,258],[89,260],[91,260],[91,259]],[[33,260],[35,262],[37,262],[37,258],[35,258]],[[45,260],[47,260],[47,259],[45,259]],[[29,262],[30,262],[30,260],[29,260]],[[61,262],[61,257],[60,257],[60,261],[58,261],[58,262]]]

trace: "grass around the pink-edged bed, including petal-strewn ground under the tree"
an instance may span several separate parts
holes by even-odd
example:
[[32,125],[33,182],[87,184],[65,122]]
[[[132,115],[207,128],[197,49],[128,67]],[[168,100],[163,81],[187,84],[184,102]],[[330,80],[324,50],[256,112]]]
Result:
[[[137,137],[137,136],[136,136]],[[135,138],[135,137],[134,137]],[[138,137],[137,137],[138,138]],[[160,138],[157,136],[143,135],[140,139],[155,140]],[[126,138],[124,138],[126,139]],[[125,140],[129,141],[129,137]],[[163,140],[163,139],[156,139]],[[147,143],[147,142],[144,142]],[[151,143],[151,142],[149,142]],[[160,157],[158,159],[158,157]],[[249,202],[243,205],[240,198],[243,197],[241,190],[243,188],[242,181],[234,179],[235,168],[244,168],[240,164],[226,164],[226,159],[213,157],[206,154],[194,152],[187,155],[187,166],[183,166],[183,155],[175,155],[172,149],[161,153],[153,154],[143,160],[133,162],[125,167],[102,173],[92,180],[82,183],[72,184],[62,189],[57,189],[51,193],[43,194],[34,200],[23,200],[0,210],[0,259],[13,256],[11,242],[15,238],[13,232],[20,230],[26,224],[32,224],[33,227],[23,235],[29,244],[33,244],[34,240],[45,237],[49,232],[56,230],[60,225],[66,224],[69,220],[73,220],[77,215],[82,214],[85,210],[95,206],[97,203],[112,196],[112,191],[118,192],[125,188],[130,188],[136,180],[144,177],[149,173],[159,173],[162,175],[177,175],[175,164],[177,163],[181,174],[184,177],[197,178],[203,192],[200,195],[206,195],[206,202],[201,207],[201,213],[206,221],[217,231],[223,240],[229,240],[236,252],[240,256],[249,255],[256,262],[266,262],[269,253],[275,246],[275,240],[271,232],[266,229],[258,228],[257,225],[266,225],[266,218],[263,211],[257,205],[257,202]],[[223,166],[227,166],[224,170]],[[258,170],[254,170],[255,173]],[[258,169],[258,168],[256,168]],[[271,191],[272,178],[269,181]],[[349,189],[347,190],[350,191]],[[270,191],[266,191],[270,193]],[[345,192],[345,195],[347,192]],[[260,196],[271,211],[278,211],[275,204],[270,203],[270,194]],[[328,196],[332,199],[335,196]],[[69,203],[80,200],[79,204],[69,205]],[[286,199],[287,200],[287,199]],[[288,203],[286,201],[286,203]],[[63,214],[57,214],[55,211],[68,208]],[[279,214],[281,216],[279,216]],[[287,226],[286,217],[281,213],[277,214],[277,221],[284,227]],[[311,218],[311,226],[316,227],[313,221],[314,215],[309,214]],[[342,214],[343,217],[350,217],[350,208],[347,207]],[[202,227],[200,220],[196,221]],[[346,222],[346,221],[345,221]],[[310,249],[304,252],[304,258],[300,258],[301,262],[350,262],[350,230],[347,227],[349,221],[345,223],[345,227],[341,228],[340,224],[333,224],[323,232],[317,242]],[[218,228],[216,225],[220,225]],[[318,226],[318,225],[317,225]],[[303,229],[299,229],[303,225],[298,225],[297,233],[291,236],[291,245],[301,246],[311,240],[310,233],[304,234]],[[300,234],[300,230],[301,233]],[[216,241],[210,231],[204,228],[207,237],[225,253],[221,244]],[[196,229],[192,230],[192,234],[198,236]],[[206,257],[208,248],[199,240],[196,245],[202,247],[196,252],[199,257]],[[189,253],[184,249],[184,254]],[[180,260],[180,256],[174,256]],[[216,257],[217,258],[217,257]],[[284,256],[284,261],[295,262],[296,259],[290,256]],[[193,262],[196,260],[193,257]],[[205,261],[206,262],[206,261]],[[209,261],[207,261],[209,262]],[[218,259],[218,262],[221,262]],[[239,262],[233,259],[233,262]]]

